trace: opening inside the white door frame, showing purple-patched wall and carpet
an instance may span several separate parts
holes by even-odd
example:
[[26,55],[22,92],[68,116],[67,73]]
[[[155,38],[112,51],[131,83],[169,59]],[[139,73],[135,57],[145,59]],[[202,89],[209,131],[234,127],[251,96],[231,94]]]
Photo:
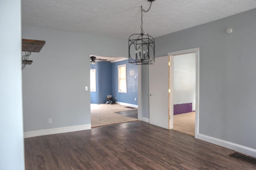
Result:
[[196,53],[173,56],[173,130],[195,135]]

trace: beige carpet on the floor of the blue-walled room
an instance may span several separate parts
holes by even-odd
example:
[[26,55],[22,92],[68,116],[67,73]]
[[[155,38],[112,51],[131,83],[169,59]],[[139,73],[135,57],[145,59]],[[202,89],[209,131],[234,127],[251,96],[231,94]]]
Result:
[[[137,108],[136,108],[137,109]],[[113,125],[130,121],[138,121],[131,117],[126,117],[114,112],[131,110],[120,104],[91,104],[91,124],[92,127]]]

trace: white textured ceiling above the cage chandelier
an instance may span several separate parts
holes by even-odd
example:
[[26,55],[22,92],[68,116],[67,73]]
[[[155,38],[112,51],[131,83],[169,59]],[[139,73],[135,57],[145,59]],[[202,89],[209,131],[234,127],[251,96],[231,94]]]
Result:
[[[22,0],[22,25],[128,39],[147,0]],[[256,8],[256,0],[156,0],[144,31],[159,37]]]

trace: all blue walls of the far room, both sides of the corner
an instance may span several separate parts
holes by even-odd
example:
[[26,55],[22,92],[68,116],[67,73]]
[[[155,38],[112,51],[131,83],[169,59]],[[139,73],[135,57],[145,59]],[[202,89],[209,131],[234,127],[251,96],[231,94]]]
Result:
[[[126,64],[127,93],[118,92],[118,65]],[[107,95],[112,95],[117,102],[138,105],[138,66],[129,64],[128,60],[110,63],[100,61],[90,65],[96,69],[96,92],[91,92],[91,103],[102,104],[106,102]],[[134,76],[130,76],[134,70]],[[135,78],[136,76],[136,78]]]

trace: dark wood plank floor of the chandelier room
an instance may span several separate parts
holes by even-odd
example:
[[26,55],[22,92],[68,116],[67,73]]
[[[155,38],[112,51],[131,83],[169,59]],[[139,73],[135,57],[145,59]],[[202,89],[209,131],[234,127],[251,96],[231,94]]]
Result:
[[249,170],[232,150],[142,121],[25,139],[26,170]]

